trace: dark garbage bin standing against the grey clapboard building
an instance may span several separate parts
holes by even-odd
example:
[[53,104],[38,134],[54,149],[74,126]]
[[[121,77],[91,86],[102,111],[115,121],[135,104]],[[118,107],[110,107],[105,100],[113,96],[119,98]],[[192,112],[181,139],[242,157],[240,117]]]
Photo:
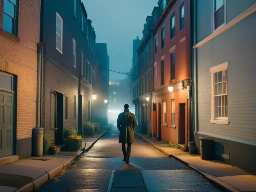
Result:
[[209,137],[199,137],[202,160],[212,160],[215,157],[215,141]]

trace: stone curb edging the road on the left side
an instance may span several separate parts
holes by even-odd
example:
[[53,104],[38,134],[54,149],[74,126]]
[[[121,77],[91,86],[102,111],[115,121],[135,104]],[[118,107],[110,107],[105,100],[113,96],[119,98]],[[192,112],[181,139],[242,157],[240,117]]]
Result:
[[[112,124],[111,126],[112,127]],[[110,127],[108,129],[110,129]],[[40,187],[41,185],[45,184],[48,182],[48,180],[51,180],[52,178],[54,178],[56,175],[58,175],[58,173],[66,168],[68,165],[70,165],[74,160],[76,160],[78,157],[82,156],[85,152],[88,152],[93,145],[100,139],[100,137],[102,137],[107,131],[105,130],[102,134],[100,134],[91,144],[90,146],[88,146],[85,150],[81,151],[80,153],[78,153],[77,155],[73,156],[71,159],[69,159],[68,161],[66,161],[64,164],[56,167],[55,169],[51,170],[50,172],[45,173],[44,175],[40,176],[39,178],[37,178],[36,180],[34,180],[33,182],[25,185],[24,187],[16,190],[16,192],[32,192],[33,190],[35,190],[36,188]]]

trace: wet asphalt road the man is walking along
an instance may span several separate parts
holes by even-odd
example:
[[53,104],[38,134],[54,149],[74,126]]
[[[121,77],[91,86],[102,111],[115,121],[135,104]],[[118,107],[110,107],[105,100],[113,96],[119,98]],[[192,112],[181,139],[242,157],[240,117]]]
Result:
[[135,137],[130,163],[122,161],[119,131],[112,126],[65,173],[37,192],[219,191],[200,175]]

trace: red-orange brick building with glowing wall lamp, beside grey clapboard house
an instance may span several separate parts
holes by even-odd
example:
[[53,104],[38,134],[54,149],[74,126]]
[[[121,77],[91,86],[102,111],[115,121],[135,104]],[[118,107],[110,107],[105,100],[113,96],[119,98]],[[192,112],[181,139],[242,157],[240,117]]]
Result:
[[[188,142],[190,96],[190,1],[159,0],[153,29],[152,133],[158,140]],[[157,18],[157,12],[153,15]]]

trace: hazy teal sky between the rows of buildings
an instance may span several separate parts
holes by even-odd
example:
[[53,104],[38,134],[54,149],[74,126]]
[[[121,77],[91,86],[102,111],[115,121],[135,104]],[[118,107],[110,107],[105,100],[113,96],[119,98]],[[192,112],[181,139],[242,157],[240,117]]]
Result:
[[[132,43],[142,38],[146,17],[158,0],[81,0],[96,33],[97,43],[106,43],[110,57],[109,69],[129,72],[132,68]],[[110,80],[126,75],[110,71]]]

